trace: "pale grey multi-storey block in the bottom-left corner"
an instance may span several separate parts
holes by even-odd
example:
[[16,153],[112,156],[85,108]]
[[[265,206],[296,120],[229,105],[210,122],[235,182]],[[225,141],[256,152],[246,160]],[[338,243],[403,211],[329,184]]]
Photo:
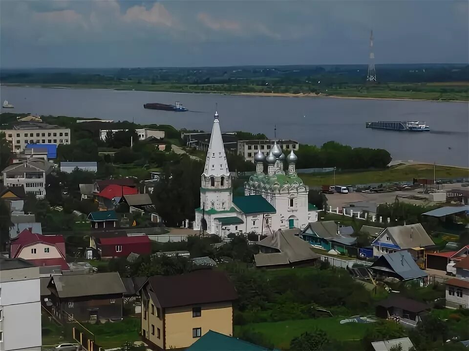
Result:
[[41,351],[39,267],[0,259],[0,350]]

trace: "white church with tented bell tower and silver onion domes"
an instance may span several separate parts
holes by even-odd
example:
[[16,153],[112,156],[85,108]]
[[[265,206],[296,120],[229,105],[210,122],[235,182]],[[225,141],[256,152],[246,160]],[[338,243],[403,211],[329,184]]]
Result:
[[[318,210],[308,204],[308,186],[295,170],[297,156],[285,156],[277,144],[270,153],[255,156],[256,172],[244,184],[245,196],[233,196],[218,113],[213,120],[195,209],[194,229],[226,237],[230,233],[273,234],[278,229],[304,229],[318,220]],[[284,162],[288,163],[287,172]],[[264,170],[264,168],[266,168]]]

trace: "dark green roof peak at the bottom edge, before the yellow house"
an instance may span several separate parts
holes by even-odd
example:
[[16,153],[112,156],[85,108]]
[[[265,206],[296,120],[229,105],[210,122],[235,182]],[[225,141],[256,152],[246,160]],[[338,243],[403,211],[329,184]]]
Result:
[[269,351],[262,346],[239,340],[235,337],[207,331],[200,339],[194,342],[186,351]]

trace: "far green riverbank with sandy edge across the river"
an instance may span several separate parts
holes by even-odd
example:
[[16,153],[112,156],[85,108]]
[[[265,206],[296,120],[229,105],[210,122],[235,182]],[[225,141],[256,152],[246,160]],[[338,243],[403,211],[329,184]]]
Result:
[[[462,85],[465,85],[462,82]],[[151,84],[27,84],[27,83],[7,83],[4,86],[19,87],[41,87],[53,89],[113,89],[121,91],[148,91],[148,92],[168,92],[184,94],[220,94],[220,95],[243,95],[259,97],[288,97],[288,98],[348,98],[348,99],[373,99],[373,100],[412,100],[412,101],[437,101],[437,102],[469,102],[468,91],[461,93],[446,92],[446,85],[439,85],[441,91],[399,91],[385,90],[380,87],[366,87],[356,90],[356,88],[337,88],[327,89],[327,93],[266,93],[266,92],[242,92],[227,91],[217,88],[225,87],[222,85],[210,86],[171,86],[171,85],[151,85]],[[448,85],[452,86],[452,85]],[[204,89],[207,87],[207,90]],[[210,88],[210,89],[209,89]]]

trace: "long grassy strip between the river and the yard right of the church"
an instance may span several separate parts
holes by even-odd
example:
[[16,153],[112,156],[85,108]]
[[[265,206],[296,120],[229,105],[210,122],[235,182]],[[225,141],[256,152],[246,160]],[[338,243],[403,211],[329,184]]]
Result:
[[[469,169],[451,166],[436,166],[436,178],[468,178]],[[320,186],[333,183],[333,174],[300,174],[303,182],[309,186]],[[368,183],[384,183],[398,181],[412,181],[412,178],[433,179],[433,165],[411,164],[396,165],[381,171],[364,172],[336,172],[336,184],[357,185]]]

